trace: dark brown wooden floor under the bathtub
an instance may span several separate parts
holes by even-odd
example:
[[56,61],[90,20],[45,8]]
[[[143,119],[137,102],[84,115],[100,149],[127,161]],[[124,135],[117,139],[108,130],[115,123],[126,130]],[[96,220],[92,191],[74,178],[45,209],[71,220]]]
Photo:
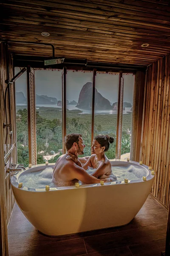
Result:
[[59,237],[40,234],[15,205],[8,227],[9,255],[161,256],[166,229],[167,212],[151,196],[125,227]]

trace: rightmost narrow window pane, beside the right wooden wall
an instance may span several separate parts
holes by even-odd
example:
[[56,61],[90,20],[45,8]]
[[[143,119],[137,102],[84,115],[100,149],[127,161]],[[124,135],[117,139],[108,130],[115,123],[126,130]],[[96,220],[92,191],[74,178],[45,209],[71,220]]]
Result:
[[133,105],[133,84],[134,77],[132,74],[123,75],[123,116],[122,116],[122,145],[121,159],[130,158],[130,140],[132,130],[132,105]]

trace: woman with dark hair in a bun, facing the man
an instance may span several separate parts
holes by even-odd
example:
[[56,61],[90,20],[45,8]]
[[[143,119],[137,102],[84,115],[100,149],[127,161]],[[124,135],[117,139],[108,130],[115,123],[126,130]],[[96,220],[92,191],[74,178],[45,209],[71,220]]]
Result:
[[92,155],[83,166],[85,170],[88,170],[90,167],[95,169],[91,175],[99,179],[104,179],[105,182],[117,180],[116,176],[113,175],[111,163],[108,157],[105,156],[105,152],[108,151],[109,145],[113,141],[113,137],[109,137],[108,135],[97,135],[94,137],[91,147]]

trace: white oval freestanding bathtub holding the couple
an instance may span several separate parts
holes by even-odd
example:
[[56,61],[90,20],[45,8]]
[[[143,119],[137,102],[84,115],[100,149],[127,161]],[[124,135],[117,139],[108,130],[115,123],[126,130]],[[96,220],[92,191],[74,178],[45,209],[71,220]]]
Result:
[[[138,166],[126,160],[111,160],[112,166]],[[28,221],[48,236],[59,236],[128,224],[139,212],[153,185],[154,175],[147,170],[146,180],[128,183],[108,182],[44,189],[18,188],[18,178],[26,172],[45,169],[45,164],[32,166],[11,177],[15,201]],[[49,164],[54,167],[54,164]]]

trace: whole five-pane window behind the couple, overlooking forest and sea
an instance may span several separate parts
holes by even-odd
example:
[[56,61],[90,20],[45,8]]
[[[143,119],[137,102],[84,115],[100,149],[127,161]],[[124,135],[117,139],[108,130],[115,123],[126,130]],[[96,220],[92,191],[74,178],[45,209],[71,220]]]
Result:
[[[15,68],[15,73],[19,71],[19,68]],[[134,76],[123,74],[123,79],[122,142],[119,141],[122,143],[121,159],[126,159],[130,157]],[[17,154],[18,163],[28,166],[26,84],[25,72],[15,82]],[[109,159],[114,159],[117,147],[119,73],[96,72],[94,122],[92,120],[92,88],[92,71],[67,70],[66,133],[82,134],[86,145],[84,156],[88,156],[91,154],[91,139],[93,139],[91,131],[94,123],[94,137],[98,134],[108,134],[110,137],[114,137],[114,143],[110,144],[110,148],[106,152]],[[62,70],[35,70],[35,99],[37,164],[45,163],[45,161],[55,163],[62,154]]]

